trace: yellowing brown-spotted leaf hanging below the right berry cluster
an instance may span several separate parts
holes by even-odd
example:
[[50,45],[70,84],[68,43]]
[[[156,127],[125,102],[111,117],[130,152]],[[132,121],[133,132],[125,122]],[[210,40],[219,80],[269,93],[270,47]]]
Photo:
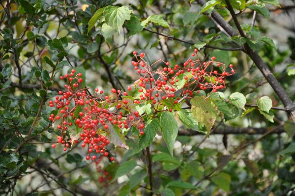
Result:
[[204,97],[199,96],[195,96],[191,99],[191,104],[193,116],[198,122],[205,125],[207,135],[209,135],[217,117],[216,106],[214,106],[210,99],[205,99]]

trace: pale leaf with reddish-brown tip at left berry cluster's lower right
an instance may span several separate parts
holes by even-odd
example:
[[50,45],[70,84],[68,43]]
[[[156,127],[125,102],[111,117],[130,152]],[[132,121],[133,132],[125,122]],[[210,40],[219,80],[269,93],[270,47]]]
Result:
[[124,147],[129,149],[126,141],[123,138],[123,135],[120,133],[120,130],[117,127],[113,127],[112,124],[108,123],[109,125],[109,132],[107,135],[108,140],[113,143],[115,146]]

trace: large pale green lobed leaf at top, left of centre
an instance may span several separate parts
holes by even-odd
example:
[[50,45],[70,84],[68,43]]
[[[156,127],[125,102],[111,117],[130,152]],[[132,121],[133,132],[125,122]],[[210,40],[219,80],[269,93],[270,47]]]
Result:
[[128,7],[114,7],[111,5],[105,7],[103,16],[107,25],[115,28],[118,33],[120,33],[124,22],[130,20],[131,17]]

